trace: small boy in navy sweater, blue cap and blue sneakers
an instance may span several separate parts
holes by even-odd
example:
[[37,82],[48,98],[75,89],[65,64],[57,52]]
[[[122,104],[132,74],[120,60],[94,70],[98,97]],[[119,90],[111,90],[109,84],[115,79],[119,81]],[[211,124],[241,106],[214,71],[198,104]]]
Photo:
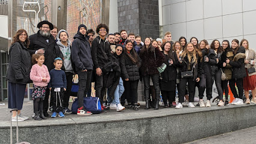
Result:
[[64,91],[67,88],[67,79],[66,74],[62,67],[62,59],[55,58],[53,64],[55,68],[50,70],[50,82],[49,82],[49,89],[50,89],[50,97],[52,97],[52,118],[55,118],[57,113],[59,113],[59,117],[64,117],[65,115],[62,113],[62,102],[64,97]]

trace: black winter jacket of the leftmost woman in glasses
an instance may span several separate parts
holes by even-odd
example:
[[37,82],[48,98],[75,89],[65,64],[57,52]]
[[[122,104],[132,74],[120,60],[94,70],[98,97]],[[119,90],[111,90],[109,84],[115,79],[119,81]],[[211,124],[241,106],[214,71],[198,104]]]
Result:
[[31,56],[28,49],[22,43],[16,42],[11,45],[9,52],[9,65],[6,76],[8,82],[21,84],[32,82],[29,77]]

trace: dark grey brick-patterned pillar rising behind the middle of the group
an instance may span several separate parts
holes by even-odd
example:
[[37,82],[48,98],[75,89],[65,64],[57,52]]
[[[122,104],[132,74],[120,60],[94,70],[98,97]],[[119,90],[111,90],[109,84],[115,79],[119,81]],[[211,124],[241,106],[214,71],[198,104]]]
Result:
[[[118,30],[126,29],[127,34],[133,32],[156,39],[159,37],[158,0],[118,0]],[[139,81],[138,101],[144,101],[144,82]]]

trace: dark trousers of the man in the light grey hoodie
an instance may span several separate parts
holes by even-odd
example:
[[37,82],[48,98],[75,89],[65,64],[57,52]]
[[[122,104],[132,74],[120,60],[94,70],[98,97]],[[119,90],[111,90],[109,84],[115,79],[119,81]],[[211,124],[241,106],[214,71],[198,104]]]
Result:
[[66,74],[66,79],[67,79],[67,89],[64,92],[63,107],[69,107],[69,97],[70,97],[70,93],[71,93],[73,73],[66,72],[65,74]]

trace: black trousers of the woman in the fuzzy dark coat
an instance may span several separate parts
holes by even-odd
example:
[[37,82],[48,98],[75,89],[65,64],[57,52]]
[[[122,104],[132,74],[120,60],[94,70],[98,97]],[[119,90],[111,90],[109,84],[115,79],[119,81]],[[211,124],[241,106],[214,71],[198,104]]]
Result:
[[144,91],[145,91],[145,98],[150,97],[150,77],[153,82],[154,90],[156,92],[156,100],[159,98],[160,95],[160,87],[159,87],[159,74],[147,75],[144,76]]

